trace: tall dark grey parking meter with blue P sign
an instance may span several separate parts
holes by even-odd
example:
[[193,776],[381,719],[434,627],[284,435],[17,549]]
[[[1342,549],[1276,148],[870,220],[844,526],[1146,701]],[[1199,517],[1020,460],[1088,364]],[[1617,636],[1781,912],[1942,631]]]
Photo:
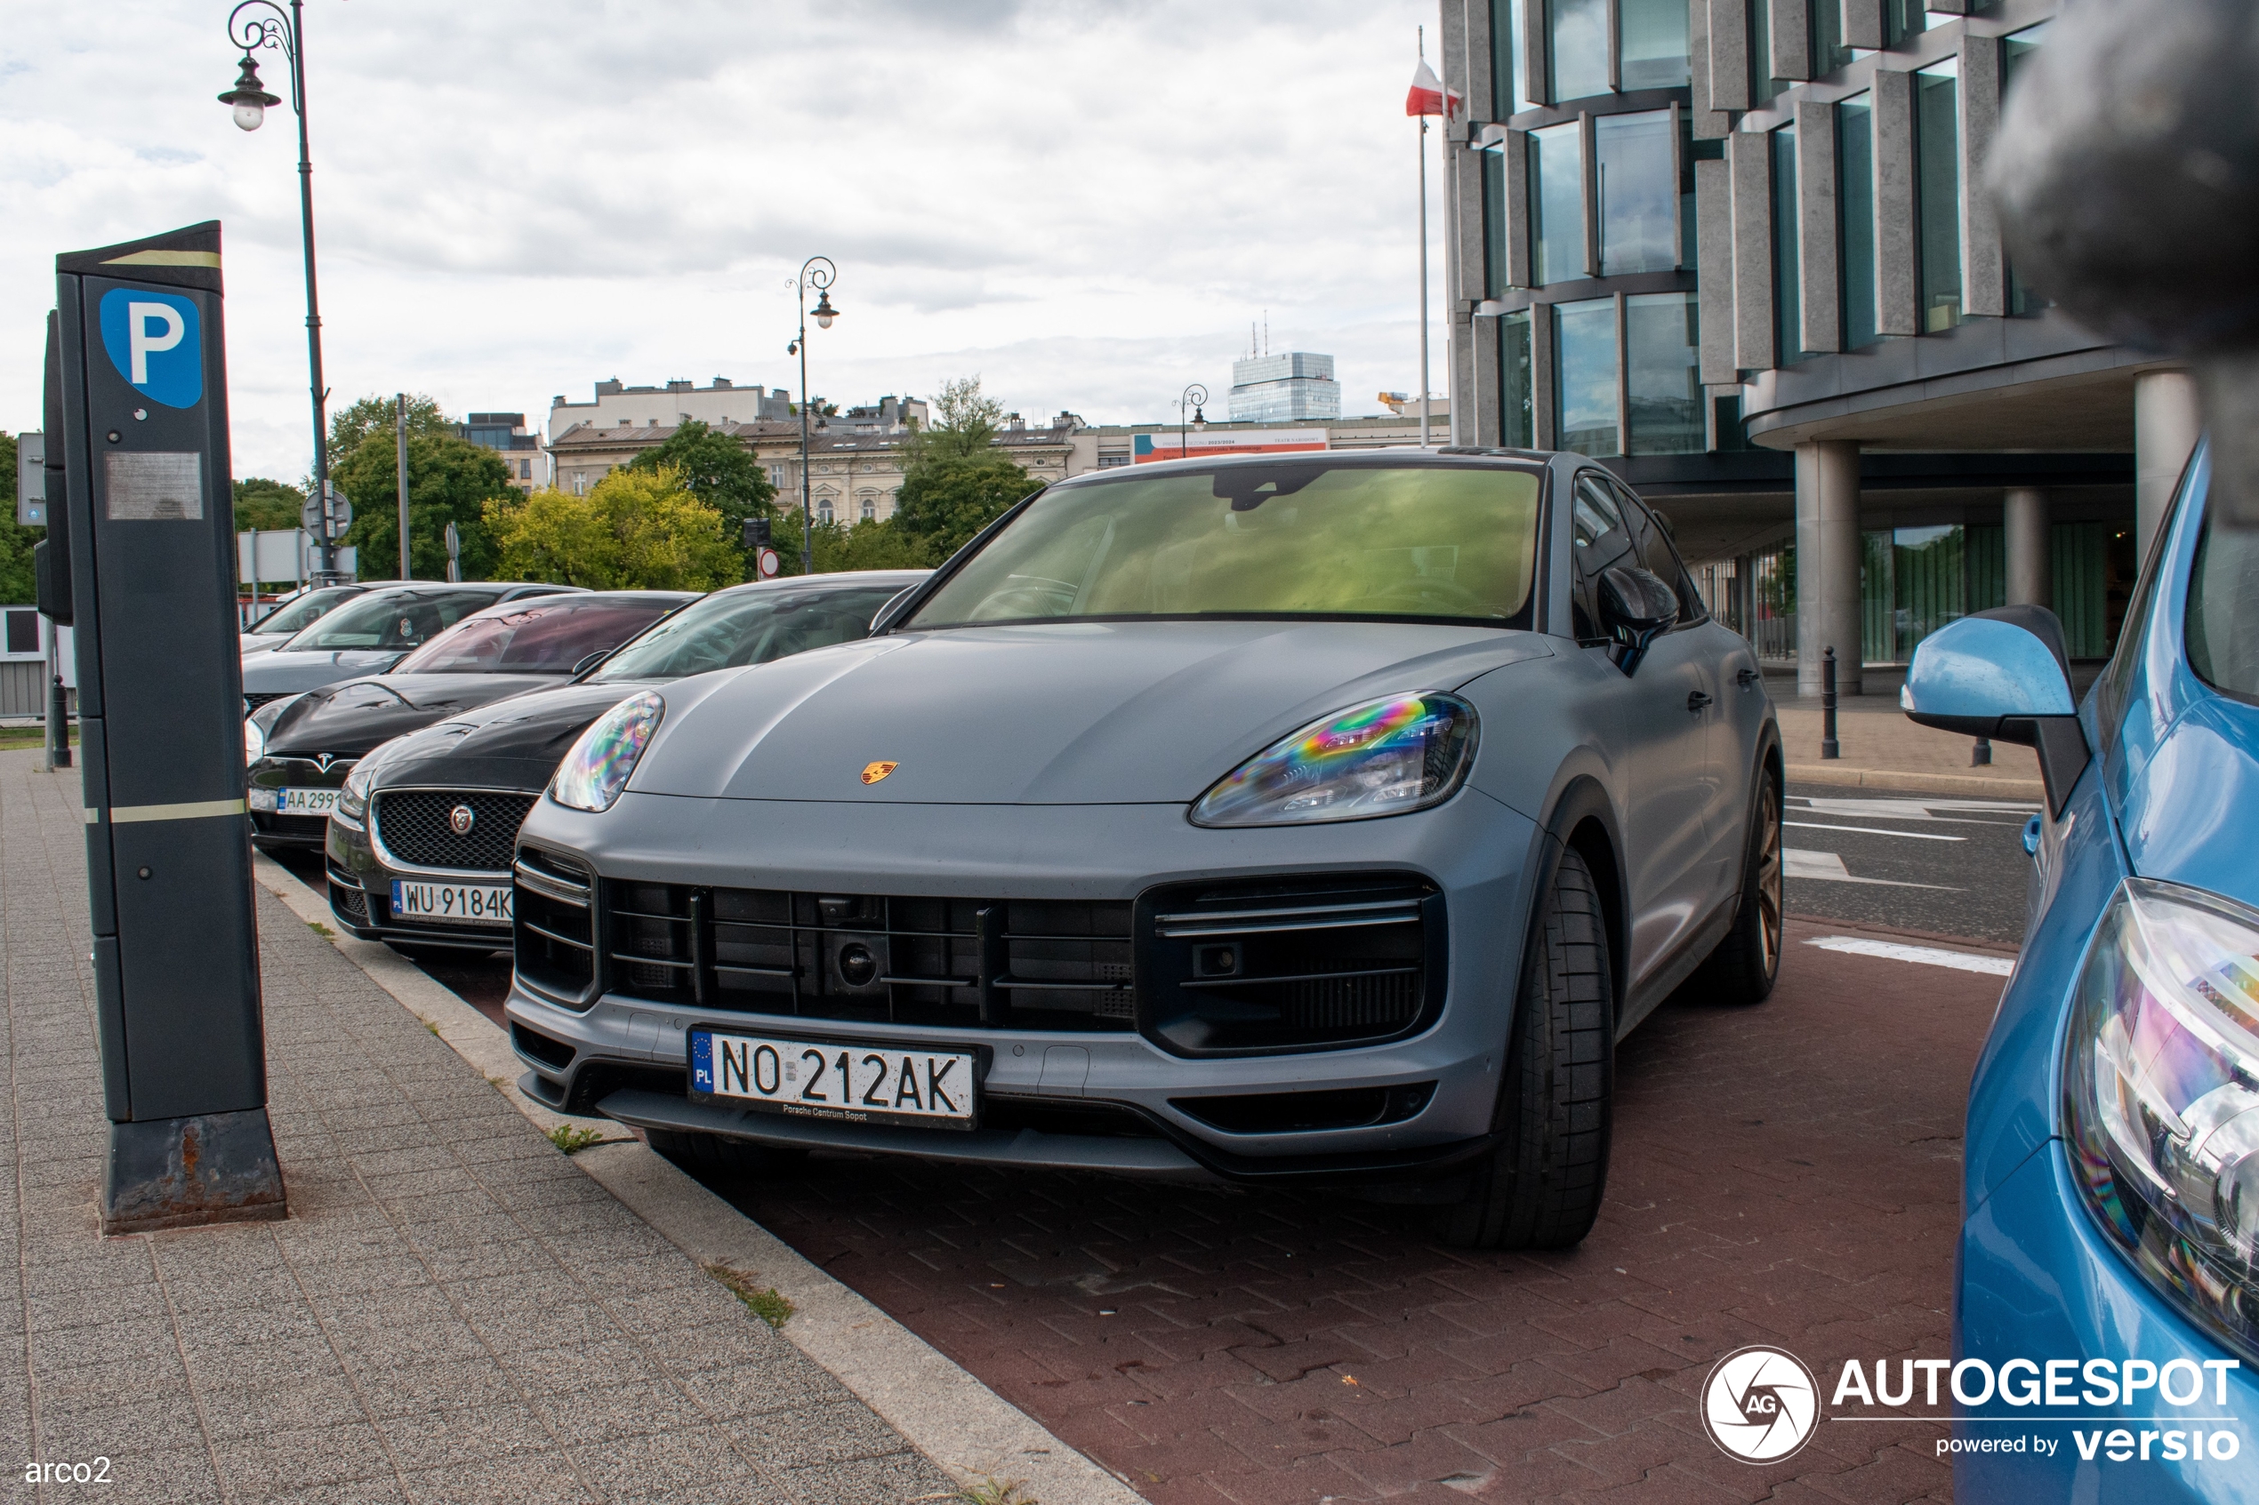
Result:
[[[104,1232],[285,1216],[244,821],[219,223],[56,257]],[[50,492],[52,499],[52,492]],[[52,505],[52,501],[50,501]]]

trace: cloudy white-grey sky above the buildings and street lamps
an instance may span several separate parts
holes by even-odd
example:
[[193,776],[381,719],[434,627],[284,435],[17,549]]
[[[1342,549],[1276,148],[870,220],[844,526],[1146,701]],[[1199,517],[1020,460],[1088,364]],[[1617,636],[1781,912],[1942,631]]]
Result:
[[[305,474],[294,122],[212,99],[226,14],[9,11],[0,429],[38,426],[56,250],[219,219],[235,474]],[[1421,23],[1432,59],[1425,0],[307,0],[332,406],[797,388],[786,280],[822,253],[834,402],[978,372],[1030,420],[1159,420],[1186,381],[1220,413],[1267,309],[1378,411],[1419,386]],[[1432,174],[1430,205],[1441,246]]]

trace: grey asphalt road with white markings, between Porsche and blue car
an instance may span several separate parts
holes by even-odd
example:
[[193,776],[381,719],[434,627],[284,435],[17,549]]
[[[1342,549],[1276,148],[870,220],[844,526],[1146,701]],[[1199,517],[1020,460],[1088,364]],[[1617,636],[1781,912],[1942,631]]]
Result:
[[2038,810],[1794,785],[1782,830],[1789,914],[2017,945],[2031,882],[2022,833]]

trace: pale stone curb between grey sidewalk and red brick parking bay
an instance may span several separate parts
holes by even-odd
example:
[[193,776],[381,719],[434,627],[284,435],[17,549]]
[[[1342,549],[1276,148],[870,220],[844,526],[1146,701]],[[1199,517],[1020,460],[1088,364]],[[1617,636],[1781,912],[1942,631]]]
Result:
[[[309,925],[332,927],[323,896],[264,853],[253,857],[260,887]],[[400,1000],[463,1060],[495,1083],[542,1133],[558,1126],[605,1126],[551,1112],[517,1088],[524,1065],[508,1036],[422,968],[377,941],[330,934],[330,943],[370,982]],[[628,1212],[655,1227],[700,1266],[727,1264],[759,1273],[793,1302],[784,1336],[829,1370],[865,1406],[953,1478],[1026,1480],[1041,1505],[1139,1505],[1141,1496],[1096,1460],[1050,1435],[1039,1422],[974,1379],[965,1367],[836,1282],[788,1243],[684,1176],[642,1139],[605,1139],[578,1164]]]

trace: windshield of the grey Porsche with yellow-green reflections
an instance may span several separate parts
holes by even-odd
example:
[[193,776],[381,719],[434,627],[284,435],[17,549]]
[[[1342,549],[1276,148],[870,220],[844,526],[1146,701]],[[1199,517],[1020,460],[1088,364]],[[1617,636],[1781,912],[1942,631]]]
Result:
[[1073,616],[1520,625],[1541,472],[1220,467],[1037,496],[910,627]]

